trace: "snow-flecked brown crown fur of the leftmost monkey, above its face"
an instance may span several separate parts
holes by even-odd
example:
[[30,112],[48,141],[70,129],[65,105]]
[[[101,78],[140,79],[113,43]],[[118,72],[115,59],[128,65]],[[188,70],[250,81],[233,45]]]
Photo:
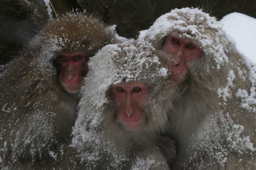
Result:
[[115,25],[107,27],[93,16],[71,12],[50,20],[31,41],[31,48],[39,69],[52,73],[55,70],[51,62],[60,52],[82,52],[89,58],[108,44],[114,34]]

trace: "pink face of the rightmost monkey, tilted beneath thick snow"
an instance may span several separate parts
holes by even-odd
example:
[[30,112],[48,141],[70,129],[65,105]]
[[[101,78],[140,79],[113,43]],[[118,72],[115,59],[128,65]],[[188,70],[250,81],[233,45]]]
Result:
[[202,54],[202,50],[189,39],[176,38],[168,35],[163,44],[163,50],[172,54],[172,62],[169,69],[172,72],[172,80],[175,83],[184,81],[187,77],[188,63]]

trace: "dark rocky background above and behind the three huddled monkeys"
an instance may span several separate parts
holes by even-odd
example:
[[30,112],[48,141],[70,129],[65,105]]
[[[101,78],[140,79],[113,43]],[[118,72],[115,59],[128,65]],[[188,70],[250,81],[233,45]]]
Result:
[[[86,10],[106,24],[116,24],[117,33],[136,38],[156,18],[174,8],[200,7],[211,16],[239,12],[256,18],[255,0],[50,0],[58,15],[72,9]],[[55,14],[53,17],[55,17]],[[49,19],[43,0],[1,0],[0,65],[22,49]],[[245,26],[246,27],[246,26]]]

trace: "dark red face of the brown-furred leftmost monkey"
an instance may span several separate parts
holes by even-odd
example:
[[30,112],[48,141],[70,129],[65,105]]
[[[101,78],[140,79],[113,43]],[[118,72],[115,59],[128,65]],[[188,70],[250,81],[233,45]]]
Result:
[[60,63],[60,83],[70,93],[79,92],[82,85],[82,73],[88,59],[82,52],[61,53],[58,58]]

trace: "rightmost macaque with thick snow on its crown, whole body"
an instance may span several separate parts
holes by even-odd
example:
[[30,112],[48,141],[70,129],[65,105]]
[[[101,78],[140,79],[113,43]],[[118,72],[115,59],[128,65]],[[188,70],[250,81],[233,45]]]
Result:
[[197,8],[174,9],[139,39],[165,52],[179,91],[164,106],[178,145],[171,168],[255,169],[256,67],[216,18]]

